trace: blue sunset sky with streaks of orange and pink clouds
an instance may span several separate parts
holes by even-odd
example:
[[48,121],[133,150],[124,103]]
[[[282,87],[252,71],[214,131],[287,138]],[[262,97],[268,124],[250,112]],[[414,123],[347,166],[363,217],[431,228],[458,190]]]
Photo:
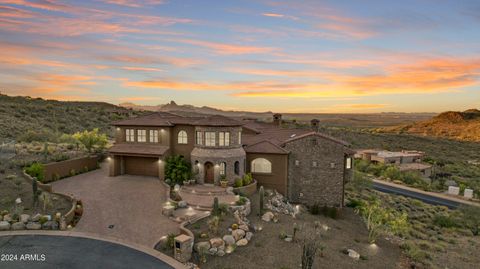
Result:
[[0,91],[278,112],[480,107],[480,1],[0,0]]

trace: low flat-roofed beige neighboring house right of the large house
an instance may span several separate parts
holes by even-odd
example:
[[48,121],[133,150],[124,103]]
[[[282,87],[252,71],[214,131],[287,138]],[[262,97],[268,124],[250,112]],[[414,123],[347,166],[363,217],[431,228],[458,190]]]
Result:
[[422,163],[425,152],[417,150],[386,151],[376,149],[357,150],[355,158],[372,163],[393,164],[400,171],[416,171],[424,177],[432,175],[432,166]]

